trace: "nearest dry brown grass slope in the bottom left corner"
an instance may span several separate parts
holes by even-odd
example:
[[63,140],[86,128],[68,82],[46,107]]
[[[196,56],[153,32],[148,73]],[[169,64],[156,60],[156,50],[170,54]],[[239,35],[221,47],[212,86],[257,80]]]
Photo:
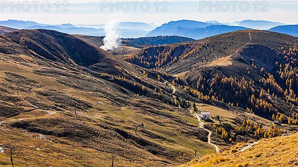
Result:
[[[14,167],[109,167],[112,154],[83,148],[69,140],[0,126],[0,167],[11,167],[9,146],[13,149]],[[115,158],[115,165],[132,166],[134,163]],[[117,163],[117,164],[116,164]]]

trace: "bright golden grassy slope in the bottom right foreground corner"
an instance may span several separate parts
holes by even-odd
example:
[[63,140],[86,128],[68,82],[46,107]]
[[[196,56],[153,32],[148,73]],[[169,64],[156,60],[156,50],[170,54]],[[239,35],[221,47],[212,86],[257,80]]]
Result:
[[231,150],[212,154],[179,167],[295,167],[298,166],[298,134],[263,139],[253,147],[239,152],[251,144],[237,144]]

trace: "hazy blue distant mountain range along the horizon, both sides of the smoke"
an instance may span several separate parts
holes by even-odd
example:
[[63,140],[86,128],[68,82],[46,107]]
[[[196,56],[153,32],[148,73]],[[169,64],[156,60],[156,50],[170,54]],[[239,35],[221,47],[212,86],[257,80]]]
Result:
[[[6,20],[0,21],[0,26],[13,29],[47,29],[55,30],[67,34],[105,36],[104,24],[84,25],[84,24],[61,24],[49,25],[40,24],[33,21]],[[243,20],[233,23],[220,23],[216,20],[199,22],[194,20],[171,21],[157,27],[152,23],[142,22],[120,22],[117,25],[120,38],[140,38],[156,36],[180,36],[192,39],[203,39],[219,34],[229,33],[238,30],[258,29],[284,33],[298,36],[297,25],[285,25],[280,22],[264,20]]]

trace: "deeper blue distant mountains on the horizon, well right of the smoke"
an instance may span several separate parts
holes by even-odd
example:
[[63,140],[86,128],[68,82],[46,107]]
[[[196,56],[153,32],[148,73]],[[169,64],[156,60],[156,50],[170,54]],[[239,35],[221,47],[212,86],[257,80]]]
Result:
[[149,32],[146,37],[153,36],[181,36],[193,39],[203,39],[232,31],[256,29],[269,30],[298,36],[296,25],[290,26],[280,22],[264,20],[243,20],[233,23],[220,23],[218,21],[198,22],[193,20],[171,21]]

